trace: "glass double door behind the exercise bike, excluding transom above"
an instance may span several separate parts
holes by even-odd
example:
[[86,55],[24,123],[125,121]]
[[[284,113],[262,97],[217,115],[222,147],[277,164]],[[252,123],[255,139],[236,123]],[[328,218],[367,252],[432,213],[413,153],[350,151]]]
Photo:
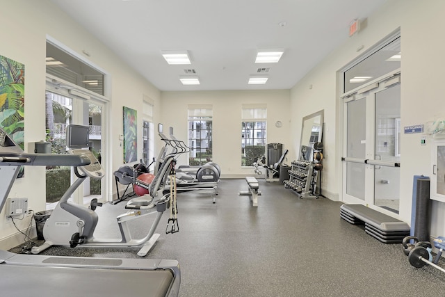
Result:
[[[85,100],[71,95],[66,90],[56,90],[50,86],[47,88],[47,138],[51,143],[52,153],[66,153],[66,128],[68,125],[84,125],[89,127],[89,150],[104,164],[102,143],[104,133],[104,104],[99,100]],[[73,168],[47,168],[47,209],[55,207],[61,195],[75,179]],[[92,198],[104,201],[104,179],[87,178],[78,191],[74,192],[72,201],[77,204],[89,204]]]

